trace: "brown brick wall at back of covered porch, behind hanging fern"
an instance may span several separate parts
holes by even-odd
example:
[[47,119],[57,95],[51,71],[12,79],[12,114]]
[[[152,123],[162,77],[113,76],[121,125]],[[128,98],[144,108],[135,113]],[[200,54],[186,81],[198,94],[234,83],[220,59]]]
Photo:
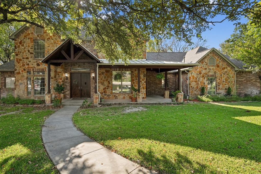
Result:
[[[163,96],[165,88],[162,88],[162,80],[156,79],[156,75],[158,73],[156,71],[147,70],[146,74],[147,74],[147,95]],[[176,91],[178,89],[177,77],[178,77],[177,73],[168,73],[169,88],[167,89],[169,91]]]

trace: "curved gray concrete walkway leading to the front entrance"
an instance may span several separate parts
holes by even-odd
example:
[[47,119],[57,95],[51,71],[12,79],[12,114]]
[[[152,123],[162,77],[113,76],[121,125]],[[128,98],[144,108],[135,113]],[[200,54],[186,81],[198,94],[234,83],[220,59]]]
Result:
[[44,147],[63,173],[155,173],[111,152],[78,131],[72,115],[79,106],[64,106],[45,120]]

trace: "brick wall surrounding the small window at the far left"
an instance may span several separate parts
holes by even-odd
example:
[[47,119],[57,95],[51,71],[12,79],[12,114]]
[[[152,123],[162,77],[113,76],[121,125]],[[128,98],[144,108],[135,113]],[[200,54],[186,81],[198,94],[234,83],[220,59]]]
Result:
[[14,71],[1,71],[0,72],[0,98],[5,97],[11,93],[14,95],[14,88],[5,88],[5,77],[15,77]]

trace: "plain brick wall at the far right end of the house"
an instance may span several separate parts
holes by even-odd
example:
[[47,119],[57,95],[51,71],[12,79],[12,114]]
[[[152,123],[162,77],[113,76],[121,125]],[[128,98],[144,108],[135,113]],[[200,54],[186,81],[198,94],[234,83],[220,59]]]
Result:
[[259,95],[260,79],[256,73],[239,71],[236,73],[236,95]]

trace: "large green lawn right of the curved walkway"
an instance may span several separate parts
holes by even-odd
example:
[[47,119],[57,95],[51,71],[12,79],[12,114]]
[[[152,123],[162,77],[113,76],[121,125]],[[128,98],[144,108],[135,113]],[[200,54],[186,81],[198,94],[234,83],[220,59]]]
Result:
[[[259,173],[261,102],[82,109],[73,121],[86,135],[161,173]],[[118,139],[118,137],[121,137]]]

